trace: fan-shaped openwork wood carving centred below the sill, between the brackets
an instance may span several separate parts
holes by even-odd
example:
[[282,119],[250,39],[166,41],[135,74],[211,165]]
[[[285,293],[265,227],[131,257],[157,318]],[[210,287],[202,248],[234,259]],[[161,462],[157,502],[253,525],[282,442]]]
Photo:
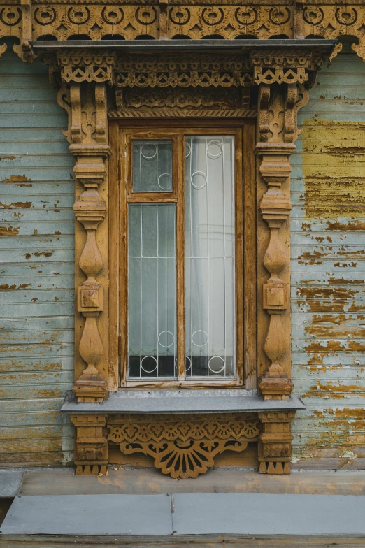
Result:
[[124,454],[143,453],[155,467],[173,478],[198,477],[214,466],[224,451],[244,451],[259,435],[257,416],[155,415],[110,417],[108,441]]

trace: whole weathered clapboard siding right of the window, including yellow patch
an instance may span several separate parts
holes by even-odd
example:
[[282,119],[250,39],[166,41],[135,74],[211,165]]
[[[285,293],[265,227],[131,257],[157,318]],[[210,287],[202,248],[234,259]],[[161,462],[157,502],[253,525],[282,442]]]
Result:
[[365,64],[338,55],[292,159],[292,376],[298,468],[365,467]]

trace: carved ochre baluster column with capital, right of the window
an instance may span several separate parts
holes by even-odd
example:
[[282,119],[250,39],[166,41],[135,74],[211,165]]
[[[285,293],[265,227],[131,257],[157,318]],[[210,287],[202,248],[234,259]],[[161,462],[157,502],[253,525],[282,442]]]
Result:
[[288,400],[293,389],[289,313],[290,156],[299,135],[297,113],[308,101],[308,87],[322,57],[313,52],[288,55],[273,51],[253,53],[251,60],[254,82],[259,86],[256,145],[259,212],[269,229],[266,239],[258,241],[258,268],[262,272],[259,301],[266,312],[259,326],[259,331],[266,332],[264,339],[259,340],[259,368],[262,368],[259,391],[265,400]]

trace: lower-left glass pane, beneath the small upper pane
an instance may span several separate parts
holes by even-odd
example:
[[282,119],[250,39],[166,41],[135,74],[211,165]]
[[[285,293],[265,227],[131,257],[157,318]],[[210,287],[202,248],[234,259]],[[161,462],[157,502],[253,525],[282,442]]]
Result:
[[130,204],[129,378],[174,378],[176,348],[176,205]]

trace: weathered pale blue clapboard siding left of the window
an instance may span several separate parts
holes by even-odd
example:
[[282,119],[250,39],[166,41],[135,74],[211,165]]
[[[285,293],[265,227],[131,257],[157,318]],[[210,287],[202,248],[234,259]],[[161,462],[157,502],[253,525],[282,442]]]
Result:
[[0,466],[71,461],[73,159],[43,64],[0,59]]

